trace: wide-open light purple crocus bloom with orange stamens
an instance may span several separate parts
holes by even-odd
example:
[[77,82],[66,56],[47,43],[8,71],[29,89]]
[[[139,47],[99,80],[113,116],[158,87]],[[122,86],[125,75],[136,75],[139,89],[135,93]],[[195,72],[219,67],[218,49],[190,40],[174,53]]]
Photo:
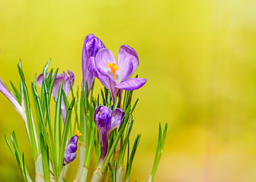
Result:
[[137,53],[128,45],[122,45],[118,52],[118,61],[109,49],[101,49],[95,58],[89,59],[88,69],[110,90],[115,101],[118,89],[139,89],[146,83],[145,78],[130,78],[139,66]]

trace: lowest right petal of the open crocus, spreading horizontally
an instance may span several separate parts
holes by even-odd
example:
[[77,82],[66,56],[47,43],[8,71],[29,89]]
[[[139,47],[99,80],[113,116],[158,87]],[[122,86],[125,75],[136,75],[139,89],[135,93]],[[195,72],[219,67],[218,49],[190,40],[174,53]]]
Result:
[[145,78],[130,78],[128,80],[119,83],[116,88],[117,89],[125,89],[125,90],[134,90],[139,89],[146,83]]

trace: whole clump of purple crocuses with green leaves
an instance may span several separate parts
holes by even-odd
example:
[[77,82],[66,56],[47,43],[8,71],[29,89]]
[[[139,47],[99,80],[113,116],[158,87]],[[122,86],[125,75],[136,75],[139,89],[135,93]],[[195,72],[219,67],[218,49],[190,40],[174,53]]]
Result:
[[[32,113],[30,106],[30,96],[21,62],[18,64],[21,75],[20,92],[11,83],[14,90],[12,92],[0,80],[0,92],[11,101],[24,120],[34,156],[35,180],[51,182],[66,180],[69,164],[75,160],[79,149],[78,171],[74,181],[85,182],[88,170],[94,170],[95,166],[90,168],[93,151],[97,157],[97,168],[91,181],[102,181],[103,177],[111,182],[128,181],[140,140],[138,135],[130,152],[133,111],[138,102],[138,99],[133,102],[133,90],[141,88],[146,83],[145,78],[133,77],[139,66],[139,58],[135,50],[129,45],[121,45],[116,61],[113,53],[104,46],[101,39],[93,34],[86,36],[82,48],[83,80],[80,95],[78,89],[75,95],[73,89],[75,76],[72,71],[67,71],[68,74],[65,71],[58,74],[58,69],[55,72],[53,69],[47,71],[49,64],[50,61],[43,68],[43,73],[35,77],[32,83],[35,113]],[[104,86],[101,89],[101,99],[99,94],[94,96],[92,91],[94,77]],[[41,94],[37,91],[37,85],[41,87]],[[69,102],[70,92],[71,102]],[[125,92],[124,96],[123,92]],[[54,120],[51,117],[53,115],[50,109],[51,96],[56,105]],[[74,117],[72,111],[75,113]],[[32,114],[37,116],[37,123],[34,122]],[[63,122],[60,121],[61,116]],[[163,133],[161,126],[159,128],[158,147],[149,181],[154,180],[162,155],[166,130],[167,125]],[[24,181],[33,181],[24,164],[24,155],[21,155],[18,148],[15,133],[11,133],[12,146],[7,137],[5,140],[18,161]],[[124,165],[125,154],[128,155],[126,165]]]

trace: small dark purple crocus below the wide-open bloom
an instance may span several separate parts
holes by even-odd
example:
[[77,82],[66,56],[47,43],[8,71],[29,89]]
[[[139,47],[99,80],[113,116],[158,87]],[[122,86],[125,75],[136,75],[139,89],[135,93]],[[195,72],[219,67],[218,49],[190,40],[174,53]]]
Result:
[[102,167],[104,158],[107,155],[108,137],[111,130],[120,127],[123,121],[124,112],[120,108],[111,111],[104,105],[98,106],[94,112],[94,122],[101,137],[101,159],[99,167]]

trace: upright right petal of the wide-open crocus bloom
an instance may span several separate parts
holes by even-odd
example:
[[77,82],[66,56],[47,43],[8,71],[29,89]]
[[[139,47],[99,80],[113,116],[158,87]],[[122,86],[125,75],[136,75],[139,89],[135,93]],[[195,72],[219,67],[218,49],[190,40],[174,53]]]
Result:
[[120,69],[125,69],[123,66],[125,67],[126,62],[129,61],[133,64],[133,70],[130,71],[129,75],[125,75],[122,80],[126,80],[127,77],[130,78],[139,66],[139,58],[135,50],[129,45],[122,45],[118,52],[118,67]]

